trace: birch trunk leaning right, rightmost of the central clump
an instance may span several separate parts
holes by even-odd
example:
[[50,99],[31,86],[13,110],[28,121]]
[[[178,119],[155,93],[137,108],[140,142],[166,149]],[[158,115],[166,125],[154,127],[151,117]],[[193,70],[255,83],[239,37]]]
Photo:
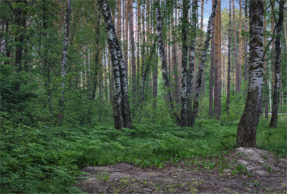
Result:
[[212,12],[211,12],[209,20],[208,20],[207,33],[206,33],[206,39],[204,41],[203,53],[201,55],[200,65],[198,67],[198,73],[196,75],[195,96],[194,96],[193,111],[192,111],[192,118],[191,118],[191,125],[190,125],[191,128],[193,128],[193,126],[195,124],[195,119],[196,119],[198,111],[199,111],[199,91],[200,91],[200,87],[201,87],[201,77],[202,77],[204,63],[205,63],[205,59],[206,59],[206,53],[207,53],[207,50],[209,47],[209,41],[211,39],[211,36],[210,36],[211,25],[212,25],[212,21],[214,20],[217,3],[220,6],[220,1],[218,2],[217,0],[214,0],[213,5],[212,5]]

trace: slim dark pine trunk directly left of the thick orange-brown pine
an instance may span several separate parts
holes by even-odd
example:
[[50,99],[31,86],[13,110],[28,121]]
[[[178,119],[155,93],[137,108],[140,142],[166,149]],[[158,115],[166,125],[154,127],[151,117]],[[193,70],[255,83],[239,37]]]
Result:
[[[212,0],[213,5],[214,0]],[[212,108],[213,108],[213,71],[214,71],[214,20],[212,21],[211,26],[211,45],[210,45],[210,78],[209,78],[209,116],[212,117]]]

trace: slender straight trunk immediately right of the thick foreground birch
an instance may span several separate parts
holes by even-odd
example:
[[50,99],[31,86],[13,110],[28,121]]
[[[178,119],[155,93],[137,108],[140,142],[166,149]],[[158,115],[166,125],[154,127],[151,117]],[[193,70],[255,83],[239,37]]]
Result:
[[[265,4],[265,3],[264,3]],[[264,5],[264,11],[267,11],[266,10],[266,7]],[[247,23],[247,22],[246,22]],[[266,24],[266,16],[264,16],[264,31],[263,32],[266,32],[267,30],[267,24]],[[264,36],[264,48],[266,48],[266,45],[267,45],[267,36],[265,35]],[[268,97],[269,97],[269,90],[268,90],[268,84],[267,84],[267,78],[268,78],[268,74],[267,74],[267,59],[266,59],[266,55],[264,56],[264,89],[265,89],[265,96],[264,96],[264,102],[265,102],[265,118],[267,119],[268,118]],[[247,77],[247,76],[246,76]]]

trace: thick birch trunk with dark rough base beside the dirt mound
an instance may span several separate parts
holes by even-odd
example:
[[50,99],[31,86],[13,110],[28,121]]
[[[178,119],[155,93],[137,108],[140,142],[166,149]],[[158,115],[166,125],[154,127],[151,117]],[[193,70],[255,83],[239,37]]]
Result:
[[263,84],[263,1],[250,1],[249,83],[247,101],[239,121],[238,146],[256,147],[256,129],[262,106]]

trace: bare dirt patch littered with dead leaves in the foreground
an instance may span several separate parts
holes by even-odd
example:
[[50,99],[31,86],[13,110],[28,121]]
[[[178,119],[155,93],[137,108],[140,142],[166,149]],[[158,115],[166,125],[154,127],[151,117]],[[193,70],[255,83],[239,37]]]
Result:
[[81,169],[86,193],[286,193],[286,157],[237,148],[211,158],[179,160],[164,168],[121,162]]

